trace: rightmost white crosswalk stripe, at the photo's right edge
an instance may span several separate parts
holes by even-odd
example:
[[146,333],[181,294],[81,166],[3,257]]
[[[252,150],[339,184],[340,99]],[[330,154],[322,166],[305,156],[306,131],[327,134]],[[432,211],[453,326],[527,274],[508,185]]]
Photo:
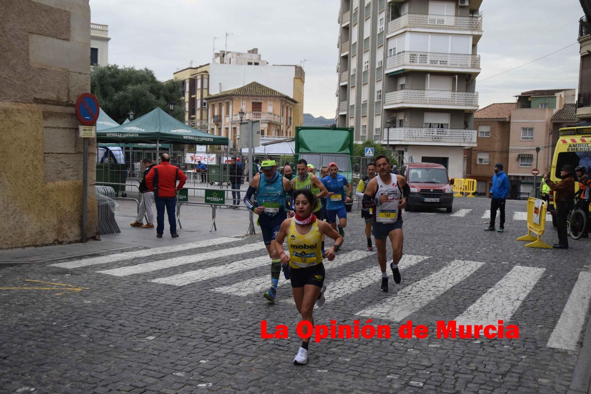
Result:
[[566,302],[560,319],[550,335],[548,347],[564,350],[579,349],[577,341],[583,330],[590,299],[591,272],[581,272],[569,295],[569,301]]

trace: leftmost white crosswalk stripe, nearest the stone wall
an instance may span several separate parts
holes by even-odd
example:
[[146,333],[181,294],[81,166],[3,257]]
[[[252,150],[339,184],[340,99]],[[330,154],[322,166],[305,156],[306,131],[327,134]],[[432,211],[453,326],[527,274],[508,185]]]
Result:
[[232,237],[207,239],[207,240],[199,241],[199,242],[183,243],[182,245],[163,246],[162,248],[134,250],[133,252],[115,253],[113,255],[98,256],[98,257],[82,259],[82,260],[67,261],[64,263],[51,264],[51,266],[60,267],[60,268],[69,268],[69,269],[80,268],[80,267],[86,267],[89,265],[114,263],[114,262],[124,261],[124,260],[129,261],[131,259],[135,259],[135,258],[139,258],[139,257],[148,257],[148,256],[154,256],[154,255],[164,254],[164,253],[169,254],[169,253],[174,253],[174,252],[180,252],[181,250],[203,248],[205,246],[223,245],[223,244],[229,243],[229,242],[237,242],[238,240],[239,239],[232,238]]

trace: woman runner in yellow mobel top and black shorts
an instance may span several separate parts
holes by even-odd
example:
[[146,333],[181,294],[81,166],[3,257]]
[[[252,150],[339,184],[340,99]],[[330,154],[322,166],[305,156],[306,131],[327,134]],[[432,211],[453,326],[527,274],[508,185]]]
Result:
[[[324,294],[320,297],[320,304],[317,299],[320,292],[326,289],[322,253],[319,248],[320,237],[326,234],[335,240],[335,245],[326,251],[328,261],[335,259],[335,249],[342,245],[343,238],[328,223],[316,220],[312,211],[316,209],[318,200],[310,190],[297,190],[294,198],[296,216],[281,223],[273,249],[275,254],[280,256],[281,263],[289,264],[291,267],[291,290],[301,319],[314,324],[314,302],[319,306],[324,304]],[[283,250],[283,240],[286,236],[289,255]],[[307,331],[307,328],[304,331]],[[310,338],[302,339],[294,364],[303,365],[308,362],[309,343]]]

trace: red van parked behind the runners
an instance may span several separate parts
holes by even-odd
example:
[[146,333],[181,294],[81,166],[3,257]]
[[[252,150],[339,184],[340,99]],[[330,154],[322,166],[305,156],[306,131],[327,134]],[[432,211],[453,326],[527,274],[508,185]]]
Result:
[[445,208],[447,212],[452,211],[453,191],[443,165],[407,163],[402,166],[401,175],[404,175],[410,186],[405,211],[415,208]]

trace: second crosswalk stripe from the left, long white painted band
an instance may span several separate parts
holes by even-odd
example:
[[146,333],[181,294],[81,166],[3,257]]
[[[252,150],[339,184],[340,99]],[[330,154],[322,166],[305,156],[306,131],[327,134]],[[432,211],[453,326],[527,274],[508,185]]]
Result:
[[181,256],[166,260],[152,261],[149,263],[142,263],[136,265],[130,265],[121,268],[106,269],[104,271],[97,271],[99,273],[107,273],[108,275],[115,276],[128,276],[134,275],[135,273],[145,273],[151,271],[158,271],[164,268],[176,267],[179,265],[197,263],[200,261],[206,261],[210,259],[216,259],[225,256],[239,255],[242,253],[254,252],[255,250],[265,249],[265,246],[261,243],[252,243],[251,245],[236,246],[235,248],[214,250],[213,252],[199,253],[197,255]]

